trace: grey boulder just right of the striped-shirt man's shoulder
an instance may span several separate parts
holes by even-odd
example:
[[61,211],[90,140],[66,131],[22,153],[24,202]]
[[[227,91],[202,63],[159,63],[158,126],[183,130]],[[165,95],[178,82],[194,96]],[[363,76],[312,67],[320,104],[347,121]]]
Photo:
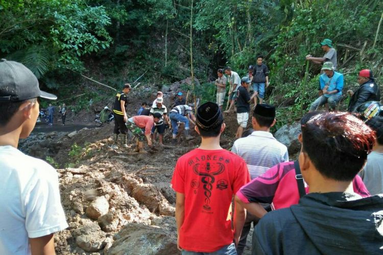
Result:
[[296,154],[301,149],[298,141],[299,133],[301,133],[301,125],[299,122],[294,122],[291,125],[283,125],[275,132],[274,137],[288,147],[290,156]]

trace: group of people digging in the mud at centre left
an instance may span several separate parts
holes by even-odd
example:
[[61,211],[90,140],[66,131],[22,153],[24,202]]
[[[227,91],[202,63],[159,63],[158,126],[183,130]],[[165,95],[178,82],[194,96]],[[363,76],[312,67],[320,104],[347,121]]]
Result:
[[178,125],[180,123],[184,125],[185,139],[193,139],[193,136],[189,134],[189,123],[195,124],[196,117],[193,113],[193,105],[186,105],[186,99],[183,97],[182,92],[177,93],[177,98],[174,100],[169,114],[167,107],[163,104],[163,93],[158,91],[156,99],[150,107],[148,107],[146,102],[143,102],[137,111],[137,115],[128,118],[126,113],[127,95],[131,89],[131,85],[127,83],[122,91],[118,92],[115,96],[112,109],[114,114],[114,148],[117,148],[118,145],[129,147],[127,144],[127,134],[130,131],[136,138],[135,151],[146,152],[143,149],[145,138],[148,145],[152,146],[152,141],[156,140],[158,134],[158,142],[160,145],[163,145],[163,135],[167,128],[173,130],[172,145],[176,145]]

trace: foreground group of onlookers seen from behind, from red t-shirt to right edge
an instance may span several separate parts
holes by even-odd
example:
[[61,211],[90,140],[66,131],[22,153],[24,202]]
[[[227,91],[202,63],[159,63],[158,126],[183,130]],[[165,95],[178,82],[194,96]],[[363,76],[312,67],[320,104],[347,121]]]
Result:
[[171,181],[182,254],[242,254],[252,222],[252,254],[381,254],[383,106],[307,113],[295,162],[270,133],[275,121],[275,107],[257,104],[254,132],[230,152],[220,106],[198,108],[201,145]]

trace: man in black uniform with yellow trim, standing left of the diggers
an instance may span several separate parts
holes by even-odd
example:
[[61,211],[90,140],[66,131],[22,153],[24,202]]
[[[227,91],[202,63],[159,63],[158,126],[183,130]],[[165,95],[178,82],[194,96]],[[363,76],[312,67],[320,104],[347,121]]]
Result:
[[113,114],[114,114],[114,130],[113,130],[113,140],[114,145],[117,145],[118,142],[118,134],[119,143],[122,146],[128,147],[126,144],[127,137],[127,127],[125,122],[128,120],[128,116],[126,115],[126,105],[127,105],[127,94],[130,92],[131,86],[129,83],[126,83],[123,87],[122,92],[118,92],[115,96],[114,105],[113,105]]

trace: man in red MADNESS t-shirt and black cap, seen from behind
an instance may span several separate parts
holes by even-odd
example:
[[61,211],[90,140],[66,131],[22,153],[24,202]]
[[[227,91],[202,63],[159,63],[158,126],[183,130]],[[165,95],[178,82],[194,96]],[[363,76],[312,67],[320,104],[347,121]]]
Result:
[[225,123],[217,104],[201,105],[196,124],[201,145],[178,159],[172,179],[178,248],[182,254],[236,254],[246,214],[235,202],[232,229],[231,201],[250,181],[249,171],[242,158],[220,146]]

